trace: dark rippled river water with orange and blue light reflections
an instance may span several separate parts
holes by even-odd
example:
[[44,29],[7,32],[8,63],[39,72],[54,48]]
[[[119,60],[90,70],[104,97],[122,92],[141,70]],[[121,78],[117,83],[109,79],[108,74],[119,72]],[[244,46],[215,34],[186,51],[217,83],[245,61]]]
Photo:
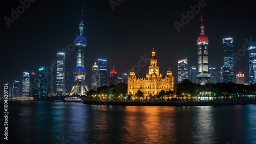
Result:
[[[4,115],[3,102],[1,107]],[[256,143],[255,104],[95,106],[12,101],[8,110],[8,141],[2,138],[0,143]],[[3,133],[3,123],[0,128]]]

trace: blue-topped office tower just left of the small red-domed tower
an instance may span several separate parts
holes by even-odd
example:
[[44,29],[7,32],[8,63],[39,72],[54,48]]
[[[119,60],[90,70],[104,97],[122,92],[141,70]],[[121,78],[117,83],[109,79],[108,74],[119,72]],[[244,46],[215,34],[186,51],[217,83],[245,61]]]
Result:
[[102,87],[103,85],[108,85],[108,69],[106,66],[106,60],[98,59],[99,87]]

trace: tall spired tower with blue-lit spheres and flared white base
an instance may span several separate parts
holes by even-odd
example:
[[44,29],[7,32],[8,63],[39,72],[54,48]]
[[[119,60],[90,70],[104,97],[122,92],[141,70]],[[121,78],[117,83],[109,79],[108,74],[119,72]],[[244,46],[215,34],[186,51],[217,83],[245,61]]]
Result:
[[75,83],[72,87],[70,95],[86,95],[89,91],[89,87],[86,84],[86,69],[84,68],[84,47],[87,45],[86,38],[83,37],[83,7],[81,13],[81,22],[79,24],[80,35],[76,37],[75,44],[78,48],[76,54],[76,67],[74,68],[73,74],[75,76]]

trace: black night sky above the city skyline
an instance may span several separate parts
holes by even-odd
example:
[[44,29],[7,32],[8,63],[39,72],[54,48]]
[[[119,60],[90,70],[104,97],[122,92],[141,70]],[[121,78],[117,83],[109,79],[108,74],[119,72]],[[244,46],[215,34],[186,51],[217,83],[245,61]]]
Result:
[[[197,38],[200,36],[201,12],[191,16],[189,22],[180,27],[180,32],[174,22],[181,23],[181,14],[187,15],[191,11],[189,6],[199,2],[124,0],[113,11],[109,0],[37,0],[8,27],[4,17],[11,18],[11,9],[16,11],[22,4],[2,1],[0,80],[11,83],[19,80],[21,85],[23,72],[37,73],[41,63],[50,65],[56,60],[57,52],[72,44],[75,34],[79,34],[80,12],[84,6],[84,37],[88,42],[84,59],[89,87],[91,69],[97,59],[106,59],[108,72],[114,66],[121,76],[138,65],[140,55],[151,57],[153,46],[160,73],[164,76],[169,67],[176,82],[177,60],[187,57],[188,67],[198,69]],[[248,51],[242,49],[245,39],[256,41],[256,13],[253,1],[239,2],[204,1],[203,24],[209,39],[209,67],[220,70],[224,64],[223,38],[233,37],[233,52],[241,52],[234,73],[241,70],[248,82]],[[77,49],[67,55],[66,73],[73,72],[76,66],[76,52]],[[145,77],[147,71],[148,63],[136,75]]]

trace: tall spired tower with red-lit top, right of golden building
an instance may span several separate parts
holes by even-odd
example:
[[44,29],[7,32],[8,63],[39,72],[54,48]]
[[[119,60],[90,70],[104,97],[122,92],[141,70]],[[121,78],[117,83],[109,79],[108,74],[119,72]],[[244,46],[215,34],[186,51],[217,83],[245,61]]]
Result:
[[196,82],[201,85],[210,83],[208,72],[208,38],[204,35],[203,16],[201,15],[201,34],[197,38],[198,53],[198,74]]

